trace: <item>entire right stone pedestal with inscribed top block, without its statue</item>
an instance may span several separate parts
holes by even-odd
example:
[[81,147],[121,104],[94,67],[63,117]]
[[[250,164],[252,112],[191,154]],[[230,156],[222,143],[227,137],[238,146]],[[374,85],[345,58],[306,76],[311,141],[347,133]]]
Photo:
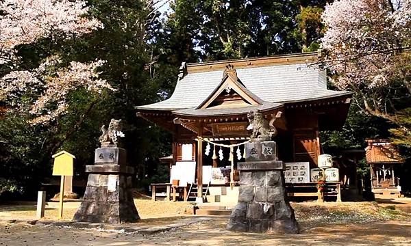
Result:
[[246,143],[246,159],[238,163],[240,194],[227,230],[299,233],[284,187],[284,163],[274,141]]

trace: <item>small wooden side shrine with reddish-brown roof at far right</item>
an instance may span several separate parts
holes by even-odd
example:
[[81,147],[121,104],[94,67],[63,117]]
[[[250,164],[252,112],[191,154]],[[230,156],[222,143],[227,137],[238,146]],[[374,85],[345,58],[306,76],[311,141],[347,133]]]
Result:
[[386,139],[366,140],[366,163],[370,165],[371,191],[376,198],[399,197],[401,187],[395,169],[404,162],[397,148]]

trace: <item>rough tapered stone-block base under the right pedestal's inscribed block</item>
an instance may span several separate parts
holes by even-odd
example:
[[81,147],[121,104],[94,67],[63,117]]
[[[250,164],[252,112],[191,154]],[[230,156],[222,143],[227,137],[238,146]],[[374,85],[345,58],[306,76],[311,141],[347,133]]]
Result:
[[240,171],[238,204],[230,215],[227,230],[299,233],[294,210],[286,200],[282,171]]

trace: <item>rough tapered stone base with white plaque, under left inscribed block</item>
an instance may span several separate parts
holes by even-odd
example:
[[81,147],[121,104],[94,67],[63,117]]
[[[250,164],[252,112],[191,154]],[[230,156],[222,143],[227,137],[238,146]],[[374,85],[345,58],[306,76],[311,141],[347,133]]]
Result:
[[84,201],[75,213],[73,221],[92,223],[138,221],[140,217],[134,205],[131,188],[131,176],[89,174]]

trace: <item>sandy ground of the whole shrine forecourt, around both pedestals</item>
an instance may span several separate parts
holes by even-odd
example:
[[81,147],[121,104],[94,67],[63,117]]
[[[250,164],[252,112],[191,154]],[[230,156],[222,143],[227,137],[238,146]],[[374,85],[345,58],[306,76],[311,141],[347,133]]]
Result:
[[[190,219],[184,215],[188,203],[136,200],[136,205],[145,218],[138,225],[155,227]],[[303,202],[292,206],[301,226],[298,235],[227,232],[228,217],[211,217],[210,221],[145,236],[112,230],[9,224],[3,220],[0,245],[411,245],[410,213],[382,208],[375,202]],[[32,216],[35,211],[31,209],[1,206],[0,218]],[[53,209],[47,212],[50,214]],[[74,213],[75,207],[67,209],[69,217],[69,210]]]

